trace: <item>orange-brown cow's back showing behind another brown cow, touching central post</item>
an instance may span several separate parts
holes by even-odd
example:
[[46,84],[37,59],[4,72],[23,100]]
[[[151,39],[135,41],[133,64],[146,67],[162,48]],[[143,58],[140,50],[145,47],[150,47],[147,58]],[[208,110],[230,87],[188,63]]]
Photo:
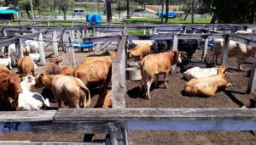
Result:
[[106,62],[113,62],[113,59],[115,58],[116,53],[111,53],[109,56],[94,56],[94,57],[86,57],[82,64],[89,64],[96,61],[106,61]]

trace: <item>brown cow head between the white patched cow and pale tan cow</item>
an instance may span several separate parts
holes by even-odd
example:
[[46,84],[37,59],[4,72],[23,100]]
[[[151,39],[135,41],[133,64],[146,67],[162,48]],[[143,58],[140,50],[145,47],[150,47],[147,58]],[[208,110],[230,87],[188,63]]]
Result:
[[41,88],[45,86],[48,86],[48,87],[51,86],[51,79],[49,75],[46,75],[45,73],[40,73],[36,77],[35,87]]

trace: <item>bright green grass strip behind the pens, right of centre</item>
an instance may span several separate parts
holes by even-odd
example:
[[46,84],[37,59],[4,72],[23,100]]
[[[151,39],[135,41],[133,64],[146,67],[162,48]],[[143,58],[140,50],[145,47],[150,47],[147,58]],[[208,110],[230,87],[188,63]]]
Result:
[[[211,21],[211,18],[194,20],[195,23],[210,23],[210,21]],[[136,23],[160,24],[160,22],[161,22],[160,18],[131,18],[131,19],[125,20],[126,24],[136,24]],[[191,19],[183,20],[183,18],[174,18],[174,19],[169,19],[168,23],[173,23],[173,24],[191,23]]]

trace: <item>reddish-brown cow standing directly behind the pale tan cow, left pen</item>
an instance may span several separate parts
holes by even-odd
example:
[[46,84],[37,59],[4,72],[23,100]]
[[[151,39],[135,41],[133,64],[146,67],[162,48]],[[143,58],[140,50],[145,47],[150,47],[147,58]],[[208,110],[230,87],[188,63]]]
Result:
[[101,86],[102,91],[108,86],[111,79],[111,62],[96,61],[89,64],[79,64],[74,70],[74,76],[78,77],[84,82],[84,85]]

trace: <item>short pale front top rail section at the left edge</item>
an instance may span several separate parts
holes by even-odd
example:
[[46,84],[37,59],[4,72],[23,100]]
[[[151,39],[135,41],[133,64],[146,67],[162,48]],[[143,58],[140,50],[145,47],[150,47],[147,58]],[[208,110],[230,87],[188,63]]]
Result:
[[49,111],[1,111],[0,122],[31,122],[53,120],[55,110]]

